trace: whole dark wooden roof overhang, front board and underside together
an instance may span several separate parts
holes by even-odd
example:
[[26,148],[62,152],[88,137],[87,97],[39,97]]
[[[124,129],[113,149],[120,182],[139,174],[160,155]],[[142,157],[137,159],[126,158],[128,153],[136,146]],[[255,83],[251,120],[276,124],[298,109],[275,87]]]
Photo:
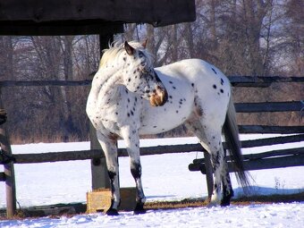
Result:
[[97,32],[97,26],[109,23],[165,26],[196,19],[194,0],[0,0],[0,5],[2,35],[100,34],[106,29]]

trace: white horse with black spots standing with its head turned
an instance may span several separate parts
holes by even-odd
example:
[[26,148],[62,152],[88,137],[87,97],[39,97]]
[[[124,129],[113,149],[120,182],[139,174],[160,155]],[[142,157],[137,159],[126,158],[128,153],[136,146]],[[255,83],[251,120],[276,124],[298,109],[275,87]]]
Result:
[[116,42],[105,50],[89,92],[87,114],[104,150],[112,188],[112,204],[106,214],[118,215],[120,203],[117,139],[126,143],[136,182],[134,213],[144,213],[139,135],[169,131],[181,124],[211,155],[215,183],[210,203],[229,205],[233,191],[222,130],[238,180],[242,186],[249,184],[242,165],[229,80],[215,66],[199,59],[154,68],[145,47],[137,42]]

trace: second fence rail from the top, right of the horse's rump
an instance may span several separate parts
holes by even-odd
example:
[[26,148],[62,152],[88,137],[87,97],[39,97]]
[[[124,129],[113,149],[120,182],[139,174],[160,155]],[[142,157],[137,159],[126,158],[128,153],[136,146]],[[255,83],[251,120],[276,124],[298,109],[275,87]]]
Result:
[[235,103],[234,106],[237,113],[300,112],[304,107],[300,101]]

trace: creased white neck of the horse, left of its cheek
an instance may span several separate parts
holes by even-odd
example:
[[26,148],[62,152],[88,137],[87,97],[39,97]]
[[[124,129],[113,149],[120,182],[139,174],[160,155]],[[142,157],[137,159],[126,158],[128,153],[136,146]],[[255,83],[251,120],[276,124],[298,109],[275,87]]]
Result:
[[105,106],[116,96],[119,85],[122,85],[122,70],[100,68],[92,81],[90,93],[98,106]]

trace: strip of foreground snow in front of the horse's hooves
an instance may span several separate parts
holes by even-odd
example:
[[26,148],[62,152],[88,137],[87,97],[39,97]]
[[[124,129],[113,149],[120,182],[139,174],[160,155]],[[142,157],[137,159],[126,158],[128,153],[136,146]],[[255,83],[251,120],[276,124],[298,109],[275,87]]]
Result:
[[122,212],[119,216],[100,214],[62,216],[60,218],[3,221],[3,228],[100,228],[100,227],[303,227],[304,204],[250,205],[243,207],[196,207],[148,211],[145,215]]

